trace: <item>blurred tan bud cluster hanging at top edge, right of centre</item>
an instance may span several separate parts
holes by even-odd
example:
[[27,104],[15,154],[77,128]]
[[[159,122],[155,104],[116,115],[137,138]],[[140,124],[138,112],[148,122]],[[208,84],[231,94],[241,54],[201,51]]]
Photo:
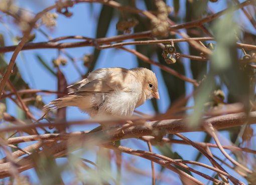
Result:
[[167,37],[169,27],[168,15],[171,12],[171,8],[162,0],[156,1],[156,6],[158,14],[156,19],[151,20],[153,26],[152,33],[155,36]]

